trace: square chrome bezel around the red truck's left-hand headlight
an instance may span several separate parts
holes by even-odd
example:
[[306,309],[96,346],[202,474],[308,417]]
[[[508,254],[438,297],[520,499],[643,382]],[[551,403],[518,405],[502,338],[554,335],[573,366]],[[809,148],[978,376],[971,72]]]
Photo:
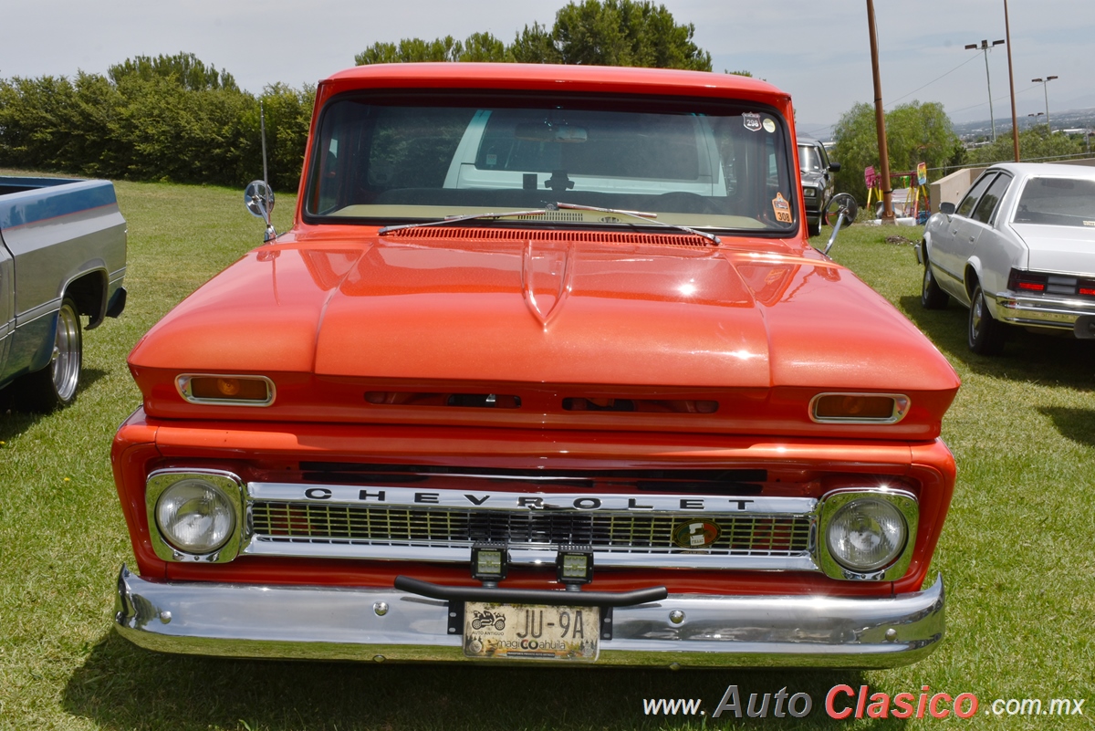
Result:
[[[216,550],[192,553],[176,548],[164,536],[157,519],[160,498],[172,486],[188,479],[200,480],[211,486],[229,503],[233,513],[232,530],[228,538]],[[240,552],[244,531],[243,480],[230,472],[219,469],[158,469],[145,483],[145,508],[148,517],[148,532],[152,550],[165,561],[204,561],[224,564]]]

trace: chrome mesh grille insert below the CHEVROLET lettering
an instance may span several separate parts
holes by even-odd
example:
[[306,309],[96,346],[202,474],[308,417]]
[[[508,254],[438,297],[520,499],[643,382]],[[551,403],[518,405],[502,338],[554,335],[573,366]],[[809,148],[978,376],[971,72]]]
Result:
[[540,512],[254,501],[255,539],[371,546],[470,547],[476,542],[548,548],[587,545],[609,553],[704,553],[723,556],[800,556],[810,550],[809,515],[704,514],[721,535],[702,552],[672,542],[690,515],[624,512]]

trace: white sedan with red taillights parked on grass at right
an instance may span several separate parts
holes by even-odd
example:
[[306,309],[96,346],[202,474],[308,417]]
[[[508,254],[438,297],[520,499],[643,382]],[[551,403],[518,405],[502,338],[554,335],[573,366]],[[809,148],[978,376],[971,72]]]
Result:
[[1005,323],[1095,338],[1095,167],[989,167],[929,219],[917,258],[921,304],[968,306],[973,352],[999,353]]

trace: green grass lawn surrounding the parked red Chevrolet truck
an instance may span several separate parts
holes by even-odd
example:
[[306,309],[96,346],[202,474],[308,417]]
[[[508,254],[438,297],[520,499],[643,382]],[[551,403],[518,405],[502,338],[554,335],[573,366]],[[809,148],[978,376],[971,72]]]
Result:
[[[943,425],[959,478],[934,570],[947,639],[890,671],[497,669],[161,655],[111,629],[114,582],[132,562],[110,467],[117,425],[140,402],[125,358],[172,305],[261,243],[241,190],[118,183],[129,222],[129,304],[84,335],[77,403],[48,416],[0,409],[0,729],[1093,728],[1095,723],[1095,343],[1013,333],[1004,356],[970,353],[966,310],[920,309],[918,229],[853,225],[833,256],[915,322],[964,385]],[[279,197],[278,230],[295,200]],[[814,710],[735,721],[655,717],[644,698],[727,685],[808,693]],[[968,720],[830,720],[837,684],[890,695],[978,696]],[[986,713],[995,699],[1087,699],[1068,719]],[[998,706],[1003,708],[1003,706]]]

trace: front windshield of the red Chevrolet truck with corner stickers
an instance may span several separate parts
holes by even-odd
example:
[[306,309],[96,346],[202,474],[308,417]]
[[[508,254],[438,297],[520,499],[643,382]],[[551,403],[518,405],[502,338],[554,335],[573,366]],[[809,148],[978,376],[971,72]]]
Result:
[[[786,140],[782,118],[756,105],[342,97],[322,112],[306,213],[392,225],[565,202],[786,233],[797,225]],[[520,221],[545,222],[644,225],[589,210]]]

